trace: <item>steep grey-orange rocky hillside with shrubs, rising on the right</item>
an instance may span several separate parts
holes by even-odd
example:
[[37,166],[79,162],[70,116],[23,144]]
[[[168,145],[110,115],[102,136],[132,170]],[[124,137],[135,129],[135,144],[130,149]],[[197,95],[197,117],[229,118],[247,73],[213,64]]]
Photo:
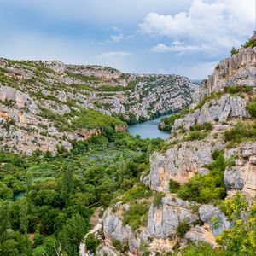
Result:
[[[98,255],[183,255],[191,242],[230,252],[216,255],[253,255],[255,92],[256,35],[218,64],[188,110],[165,120],[172,137],[151,155],[144,186],[137,183],[104,212]],[[207,244],[200,255],[210,255]]]

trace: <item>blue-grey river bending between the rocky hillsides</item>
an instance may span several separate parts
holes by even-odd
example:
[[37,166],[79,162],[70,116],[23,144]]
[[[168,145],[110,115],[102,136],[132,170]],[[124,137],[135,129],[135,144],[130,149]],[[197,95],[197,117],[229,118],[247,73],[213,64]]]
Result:
[[148,120],[143,123],[139,123],[135,125],[129,125],[128,130],[132,135],[136,136],[138,134],[142,138],[160,137],[162,139],[166,139],[170,137],[170,132],[160,131],[158,129],[158,125],[160,124],[161,119],[171,115],[172,114],[161,115],[157,119]]

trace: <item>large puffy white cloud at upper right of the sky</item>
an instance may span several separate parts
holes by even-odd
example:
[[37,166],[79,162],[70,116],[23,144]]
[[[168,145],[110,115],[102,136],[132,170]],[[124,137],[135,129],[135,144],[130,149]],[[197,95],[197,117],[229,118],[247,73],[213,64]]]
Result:
[[149,13],[139,30],[144,35],[178,39],[188,45],[158,44],[153,51],[227,49],[243,43],[255,27],[254,0],[194,0],[187,12]]

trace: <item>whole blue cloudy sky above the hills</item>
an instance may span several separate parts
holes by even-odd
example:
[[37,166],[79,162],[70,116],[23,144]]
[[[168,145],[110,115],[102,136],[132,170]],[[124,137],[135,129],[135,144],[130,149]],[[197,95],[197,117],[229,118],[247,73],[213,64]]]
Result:
[[0,56],[204,79],[256,30],[256,0],[0,0]]

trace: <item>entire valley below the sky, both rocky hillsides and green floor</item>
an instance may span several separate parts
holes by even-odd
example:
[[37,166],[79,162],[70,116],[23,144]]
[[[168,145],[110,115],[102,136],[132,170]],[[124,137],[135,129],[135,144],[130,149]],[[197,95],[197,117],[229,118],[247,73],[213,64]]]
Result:
[[0,59],[0,254],[253,256],[255,95],[256,34],[201,86]]

